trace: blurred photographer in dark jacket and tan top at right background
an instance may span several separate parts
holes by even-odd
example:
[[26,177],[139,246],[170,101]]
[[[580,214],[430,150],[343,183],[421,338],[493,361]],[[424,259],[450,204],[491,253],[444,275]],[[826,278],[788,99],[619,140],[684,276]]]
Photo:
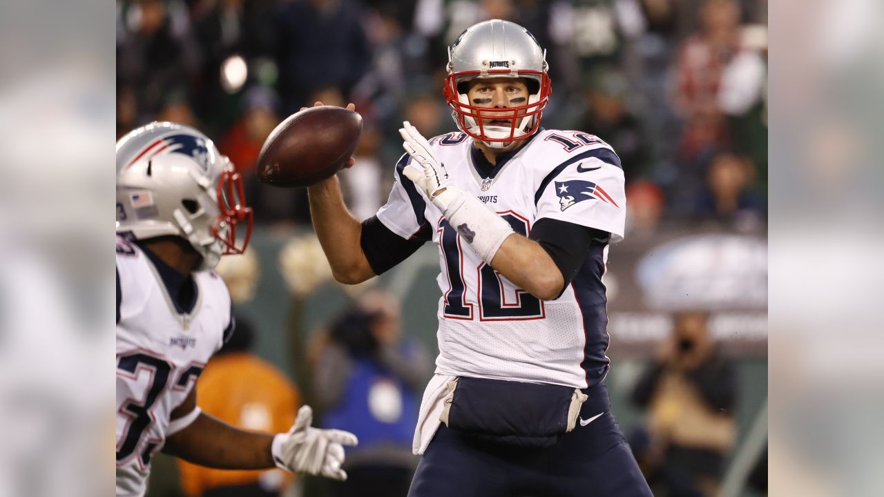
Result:
[[648,409],[630,440],[659,496],[717,495],[735,440],[735,364],[716,347],[707,316],[684,312],[632,394]]

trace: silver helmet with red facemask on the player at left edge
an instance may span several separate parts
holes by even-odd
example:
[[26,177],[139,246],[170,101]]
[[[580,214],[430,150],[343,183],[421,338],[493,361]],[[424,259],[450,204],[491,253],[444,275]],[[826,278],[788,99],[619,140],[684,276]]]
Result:
[[[245,233],[237,241],[237,226]],[[202,255],[202,268],[241,254],[252,233],[240,173],[190,126],[153,122],[117,141],[117,233],[136,240],[176,235]]]

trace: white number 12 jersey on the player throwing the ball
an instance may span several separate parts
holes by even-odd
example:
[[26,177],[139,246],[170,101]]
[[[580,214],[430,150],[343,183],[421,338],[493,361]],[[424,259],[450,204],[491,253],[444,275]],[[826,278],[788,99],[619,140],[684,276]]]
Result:
[[[431,147],[449,180],[476,195],[528,235],[541,218],[623,238],[626,198],[620,159],[604,141],[575,131],[543,130],[487,177],[474,164],[473,140],[437,136]],[[608,359],[606,296],[601,276],[607,246],[599,244],[560,298],[541,301],[484,262],[441,212],[396,167],[396,181],[377,218],[403,238],[438,244],[436,373],[586,388],[604,378]],[[429,228],[429,229],[428,229]],[[428,233],[429,232],[429,233]]]

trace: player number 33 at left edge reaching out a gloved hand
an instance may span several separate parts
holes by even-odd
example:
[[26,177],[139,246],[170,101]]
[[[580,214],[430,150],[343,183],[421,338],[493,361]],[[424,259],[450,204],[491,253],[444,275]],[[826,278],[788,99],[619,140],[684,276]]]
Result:
[[[158,450],[221,469],[345,479],[352,433],[310,426],[248,432],[202,413],[194,384],[233,333],[231,298],[212,271],[248,245],[242,181],[212,141],[151,123],[117,143],[117,495],[144,495]],[[237,233],[242,234],[238,242]]]

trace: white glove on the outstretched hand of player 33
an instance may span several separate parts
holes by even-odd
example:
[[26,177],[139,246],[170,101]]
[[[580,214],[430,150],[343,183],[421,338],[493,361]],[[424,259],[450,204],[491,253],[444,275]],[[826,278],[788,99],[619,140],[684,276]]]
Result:
[[312,423],[313,409],[301,406],[292,429],[273,438],[273,461],[283,470],[346,480],[347,473],[340,469],[343,446],[356,445],[359,440],[351,432],[313,428]]

